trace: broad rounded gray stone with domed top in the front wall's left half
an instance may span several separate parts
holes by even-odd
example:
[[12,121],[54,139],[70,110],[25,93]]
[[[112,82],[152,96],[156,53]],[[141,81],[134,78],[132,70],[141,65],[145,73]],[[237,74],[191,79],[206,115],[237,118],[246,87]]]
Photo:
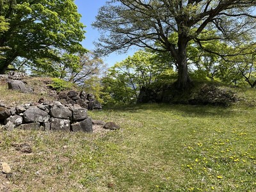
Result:
[[24,121],[30,122],[47,122],[50,116],[45,111],[37,108],[36,106],[27,109],[24,113]]

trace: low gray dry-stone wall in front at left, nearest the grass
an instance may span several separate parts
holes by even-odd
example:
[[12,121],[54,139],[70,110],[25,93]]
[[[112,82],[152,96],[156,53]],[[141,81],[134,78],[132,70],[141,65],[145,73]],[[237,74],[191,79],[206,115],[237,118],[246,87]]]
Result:
[[63,105],[61,102],[24,104],[12,108],[0,107],[3,129],[42,129],[52,131],[92,132],[92,118],[87,109],[77,104]]

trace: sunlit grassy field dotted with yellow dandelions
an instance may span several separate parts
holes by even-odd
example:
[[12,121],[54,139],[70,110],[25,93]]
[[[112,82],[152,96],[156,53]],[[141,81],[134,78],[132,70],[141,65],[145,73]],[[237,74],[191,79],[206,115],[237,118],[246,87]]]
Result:
[[[0,191],[256,191],[255,91],[228,108],[147,104],[92,111],[118,131],[6,132]],[[241,94],[242,94],[241,92]],[[23,154],[15,143],[29,143]]]

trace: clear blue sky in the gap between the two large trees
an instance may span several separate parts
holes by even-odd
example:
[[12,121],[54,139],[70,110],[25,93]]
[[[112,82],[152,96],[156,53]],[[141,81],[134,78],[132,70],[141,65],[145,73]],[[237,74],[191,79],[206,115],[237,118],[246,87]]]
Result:
[[[106,0],[75,0],[78,12],[82,15],[81,22],[86,25],[86,39],[82,42],[83,47],[85,47],[86,49],[93,50],[93,41],[97,41],[100,36],[97,29],[93,29],[91,24],[93,21],[95,21],[95,17],[98,13],[99,8],[103,6],[105,2]],[[132,55],[133,53],[134,51],[132,50],[129,51],[127,54],[112,53],[102,59],[104,60],[104,63],[108,64],[108,67],[111,67],[116,62],[124,60],[125,58],[127,58],[127,56]]]

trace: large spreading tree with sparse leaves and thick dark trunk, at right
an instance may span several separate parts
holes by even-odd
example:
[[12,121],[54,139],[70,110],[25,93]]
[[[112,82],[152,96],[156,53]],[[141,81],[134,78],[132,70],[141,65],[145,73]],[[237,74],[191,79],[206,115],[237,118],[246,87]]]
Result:
[[[204,49],[202,42],[207,40],[236,47],[253,41],[255,6],[255,0],[111,0],[100,8],[93,26],[102,32],[97,45],[105,54],[127,51],[132,45],[169,52],[177,62],[177,87],[186,88],[191,82],[188,43],[194,40]],[[217,31],[214,36],[198,38],[212,29]],[[175,42],[173,33],[178,34]],[[246,47],[236,54],[242,49]]]

